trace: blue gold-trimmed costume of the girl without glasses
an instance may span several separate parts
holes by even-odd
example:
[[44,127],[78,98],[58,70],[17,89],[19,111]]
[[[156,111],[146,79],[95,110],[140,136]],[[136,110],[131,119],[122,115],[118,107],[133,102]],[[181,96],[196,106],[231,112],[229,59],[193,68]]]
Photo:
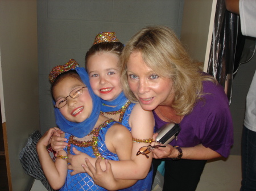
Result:
[[[128,101],[121,109],[121,116],[119,117],[119,122],[122,123],[123,126],[125,126],[129,131],[131,131],[131,127],[129,125],[129,117],[131,114],[131,111],[134,108],[134,103],[131,103]],[[108,113],[108,112],[105,112]],[[147,177],[142,180],[138,180],[136,184],[133,186],[122,189],[122,191],[150,191],[151,190],[151,184],[152,184],[152,178],[153,178],[153,171],[152,168],[150,169],[150,172],[148,173]]]

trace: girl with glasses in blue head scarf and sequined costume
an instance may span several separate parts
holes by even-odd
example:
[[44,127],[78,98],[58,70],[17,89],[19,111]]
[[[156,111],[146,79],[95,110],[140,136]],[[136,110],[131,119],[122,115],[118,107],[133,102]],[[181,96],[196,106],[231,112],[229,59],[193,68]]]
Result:
[[[86,152],[89,156],[104,160],[111,168],[108,160],[125,160],[129,163],[133,146],[131,133],[125,126],[113,119],[100,114],[100,98],[94,95],[90,87],[89,77],[84,68],[77,67],[75,60],[70,60],[64,66],[52,69],[49,78],[52,82],[51,93],[55,104],[56,124],[65,134],[68,146],[58,152],[56,161],[49,156],[47,147],[54,128],[49,129],[37,144],[37,151],[44,174],[53,189],[60,190],[106,190],[94,184],[88,173],[71,175],[68,169],[67,154],[77,151]],[[71,70],[72,69],[72,70]],[[122,169],[119,171],[122,171]],[[113,174],[108,178],[114,180]],[[115,180],[108,182],[108,190],[117,190],[118,181],[122,187],[135,183],[134,180]]]

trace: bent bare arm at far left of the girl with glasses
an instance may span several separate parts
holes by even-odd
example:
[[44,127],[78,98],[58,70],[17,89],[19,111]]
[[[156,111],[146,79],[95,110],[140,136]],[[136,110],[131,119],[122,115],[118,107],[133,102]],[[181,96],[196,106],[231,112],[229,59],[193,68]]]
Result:
[[[56,159],[56,162],[53,162],[47,151],[49,139],[51,139],[51,136],[55,131],[56,130],[53,128],[49,129],[43,137],[39,139],[38,144],[36,145],[36,150],[38,151],[40,164],[49,184],[53,189],[60,189],[64,185],[67,176],[67,161]],[[64,156],[67,155],[65,151],[60,151],[59,154]]]

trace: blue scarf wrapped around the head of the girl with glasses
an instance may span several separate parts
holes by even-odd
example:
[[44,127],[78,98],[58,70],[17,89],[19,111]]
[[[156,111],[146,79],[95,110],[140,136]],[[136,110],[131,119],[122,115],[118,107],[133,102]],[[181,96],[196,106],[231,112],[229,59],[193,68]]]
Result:
[[[89,94],[92,97],[92,113],[90,114],[90,117],[84,120],[83,122],[76,123],[66,120],[65,117],[60,113],[60,110],[58,108],[55,108],[54,112],[56,124],[57,126],[59,126],[61,130],[63,130],[66,133],[72,134],[75,137],[82,138],[88,135],[90,131],[93,130],[100,115],[101,101],[100,98],[93,93],[92,87],[90,87],[89,83],[89,76],[85,69],[83,67],[76,67],[75,70],[79,74],[82,82],[85,84],[85,86],[87,86]],[[53,104],[55,104],[54,100]]]

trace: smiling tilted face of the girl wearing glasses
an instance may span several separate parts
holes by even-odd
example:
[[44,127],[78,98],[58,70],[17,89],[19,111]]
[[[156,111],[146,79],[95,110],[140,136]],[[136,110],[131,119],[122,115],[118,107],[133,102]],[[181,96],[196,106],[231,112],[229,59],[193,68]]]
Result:
[[[67,97],[75,88],[84,87],[85,84],[74,77],[65,77],[61,79],[53,88],[53,97],[57,101],[61,97]],[[82,94],[73,99],[67,97],[67,104],[60,108],[60,113],[72,122],[82,122],[86,120],[92,113],[92,97],[90,97],[88,89],[82,88]]]

